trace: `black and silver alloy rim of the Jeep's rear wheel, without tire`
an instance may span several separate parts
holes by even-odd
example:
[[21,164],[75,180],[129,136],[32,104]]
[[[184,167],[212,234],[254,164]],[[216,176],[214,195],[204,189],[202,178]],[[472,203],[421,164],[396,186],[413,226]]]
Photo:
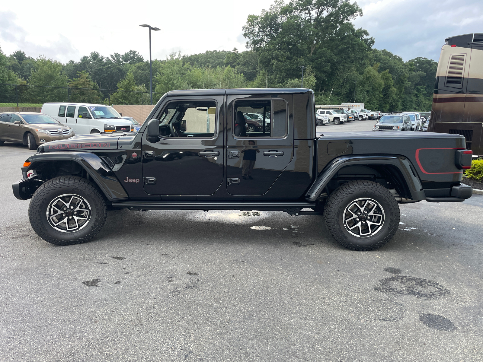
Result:
[[358,198],[344,210],[345,229],[355,237],[377,234],[384,224],[384,209],[371,198]]

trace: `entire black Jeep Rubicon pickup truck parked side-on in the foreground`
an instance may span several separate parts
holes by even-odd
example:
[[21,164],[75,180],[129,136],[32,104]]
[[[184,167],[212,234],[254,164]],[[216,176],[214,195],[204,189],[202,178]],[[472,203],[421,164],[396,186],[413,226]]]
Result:
[[460,183],[472,154],[463,136],[316,134],[309,89],[170,91],[147,119],[137,133],[52,141],[27,159],[13,190],[31,198],[40,237],[86,242],[110,208],[265,210],[323,215],[339,243],[363,251],[394,236],[398,203],[472,194]]

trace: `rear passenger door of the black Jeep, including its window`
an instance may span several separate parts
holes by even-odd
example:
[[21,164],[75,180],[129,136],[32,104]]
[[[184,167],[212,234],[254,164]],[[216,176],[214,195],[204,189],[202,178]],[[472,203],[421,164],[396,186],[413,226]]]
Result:
[[[264,121],[259,122],[256,132],[246,129],[244,113],[262,115]],[[292,114],[292,95],[227,96],[229,194],[263,195],[287,167],[294,151],[289,114]]]

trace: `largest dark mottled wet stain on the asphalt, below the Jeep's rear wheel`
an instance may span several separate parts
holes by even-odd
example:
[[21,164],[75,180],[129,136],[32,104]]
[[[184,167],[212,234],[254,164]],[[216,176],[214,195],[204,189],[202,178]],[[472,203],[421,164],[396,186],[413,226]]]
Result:
[[450,293],[449,290],[435,281],[404,275],[381,279],[374,290],[385,294],[414,295],[422,299],[436,299]]

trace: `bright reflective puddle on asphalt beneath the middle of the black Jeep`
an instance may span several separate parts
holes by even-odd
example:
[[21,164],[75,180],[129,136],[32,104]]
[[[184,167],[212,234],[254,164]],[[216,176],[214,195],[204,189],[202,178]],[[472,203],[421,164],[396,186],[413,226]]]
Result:
[[250,224],[269,216],[270,212],[267,211],[213,210],[191,212],[185,215],[185,219],[195,222]]

